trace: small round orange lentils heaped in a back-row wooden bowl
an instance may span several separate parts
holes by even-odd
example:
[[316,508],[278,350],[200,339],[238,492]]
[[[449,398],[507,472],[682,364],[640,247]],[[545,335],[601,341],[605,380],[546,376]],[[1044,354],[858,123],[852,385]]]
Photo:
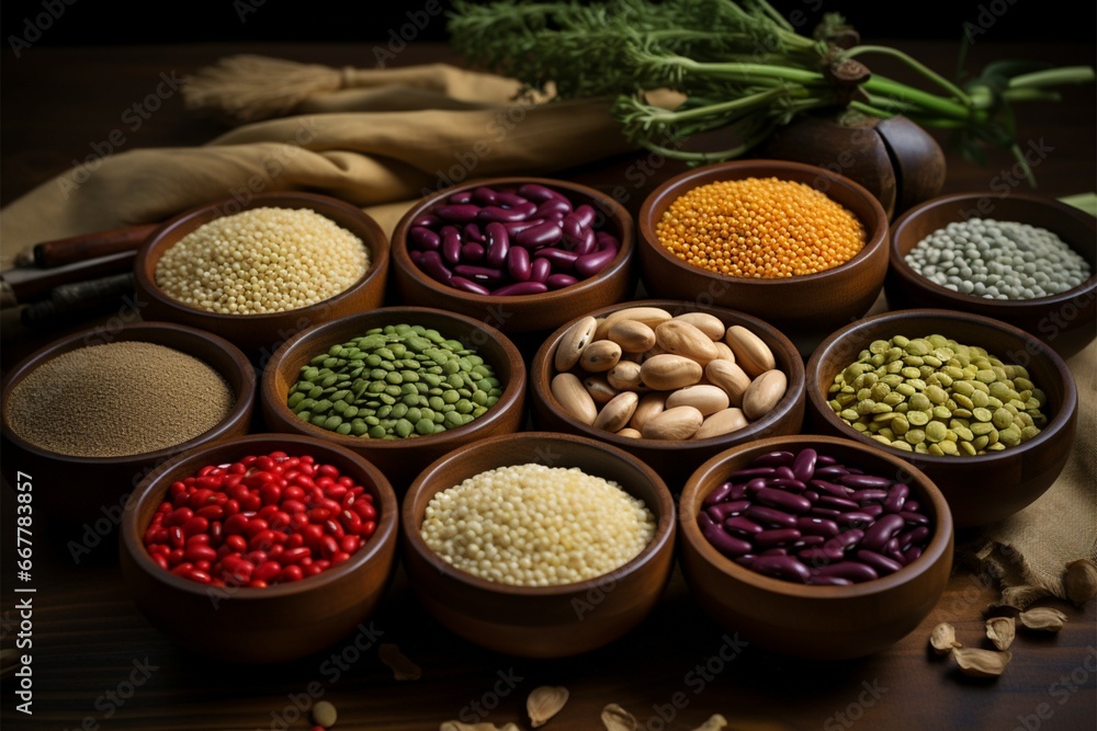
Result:
[[678,259],[731,276],[815,274],[864,248],[864,225],[805,183],[745,178],[679,196],[655,227]]

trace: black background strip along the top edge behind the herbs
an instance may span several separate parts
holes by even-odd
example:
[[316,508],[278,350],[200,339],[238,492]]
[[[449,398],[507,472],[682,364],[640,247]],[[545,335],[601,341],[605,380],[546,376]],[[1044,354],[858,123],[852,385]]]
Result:
[[[285,2],[280,0],[194,0],[160,3],[149,0],[5,0],[0,5],[3,60],[11,60],[12,38],[27,39],[27,21],[54,9],[41,37],[43,46],[170,44],[230,41],[374,43],[407,23],[409,11],[427,0],[385,2]],[[70,4],[69,4],[70,3]],[[443,8],[450,3],[440,1]],[[805,13],[811,27],[823,12],[838,12],[861,33],[862,41],[885,38],[957,39],[965,22],[982,23],[980,41],[1094,41],[1097,13],[1093,0],[772,0],[789,16]],[[64,12],[59,12],[61,10]],[[982,19],[982,20],[980,20]],[[44,19],[45,20],[45,19]],[[992,22],[993,21],[993,24]],[[39,26],[47,25],[46,22]],[[33,33],[33,32],[32,32]],[[445,24],[437,16],[418,41],[445,41]]]

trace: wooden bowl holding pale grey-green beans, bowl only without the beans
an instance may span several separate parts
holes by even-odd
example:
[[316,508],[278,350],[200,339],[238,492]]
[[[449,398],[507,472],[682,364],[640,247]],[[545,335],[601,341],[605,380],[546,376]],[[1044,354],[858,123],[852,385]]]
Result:
[[[906,255],[949,224],[980,217],[1018,221],[1055,233],[1089,262],[1090,274],[1067,292],[1034,299],[986,299],[952,292],[918,274]],[[891,309],[931,308],[1004,320],[1043,340],[1061,355],[1081,350],[1097,334],[1097,218],[1074,206],[1027,193],[991,198],[965,193],[927,201],[901,216],[891,230],[891,264],[884,289]]]

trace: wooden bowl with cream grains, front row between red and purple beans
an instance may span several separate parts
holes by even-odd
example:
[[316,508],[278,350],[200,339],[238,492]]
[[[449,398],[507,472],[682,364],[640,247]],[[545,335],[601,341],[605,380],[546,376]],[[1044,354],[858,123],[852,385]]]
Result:
[[670,578],[674,499],[649,467],[581,436],[489,437],[427,467],[400,512],[410,584],[480,647],[563,658],[621,638]]

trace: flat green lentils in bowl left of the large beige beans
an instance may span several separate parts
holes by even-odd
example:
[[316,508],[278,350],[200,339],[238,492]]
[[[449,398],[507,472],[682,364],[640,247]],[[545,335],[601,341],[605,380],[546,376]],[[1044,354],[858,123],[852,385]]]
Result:
[[490,364],[422,325],[367,330],[302,366],[286,406],[341,435],[396,439],[464,426],[498,402]]

